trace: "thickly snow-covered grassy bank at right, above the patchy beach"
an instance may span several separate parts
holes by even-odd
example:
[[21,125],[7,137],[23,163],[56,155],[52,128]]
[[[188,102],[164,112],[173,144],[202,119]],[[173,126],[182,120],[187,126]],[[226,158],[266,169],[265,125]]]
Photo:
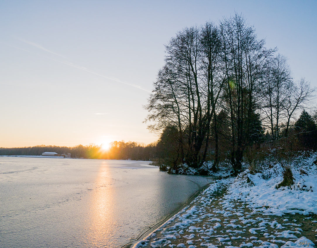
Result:
[[317,171],[313,164],[315,159],[316,153],[308,158],[294,158],[291,166],[294,185],[279,189],[276,187],[283,180],[280,164],[254,175],[245,170],[228,188],[227,197],[248,202],[250,208],[265,215],[317,214]]

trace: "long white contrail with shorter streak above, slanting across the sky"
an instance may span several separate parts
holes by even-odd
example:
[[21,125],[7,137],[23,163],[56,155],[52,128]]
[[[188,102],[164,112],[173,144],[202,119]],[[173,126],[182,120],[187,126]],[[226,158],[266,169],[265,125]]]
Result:
[[[41,50],[43,50],[43,51],[45,51],[45,52],[52,53],[52,54],[55,54],[55,55],[57,55],[57,56],[60,56],[60,57],[62,57],[62,58],[64,58],[64,59],[67,59],[67,58],[64,57],[63,55],[60,55],[60,54],[58,54],[58,53],[51,52],[51,51],[49,51],[48,49],[46,49],[46,48],[42,47],[41,45],[38,45],[38,44],[36,44],[36,43],[34,43],[34,42],[30,42],[30,41],[23,40],[23,39],[20,39],[20,38],[16,38],[16,39],[17,39],[17,40],[20,40],[20,41],[22,41],[22,42],[24,42],[24,43],[27,43],[27,44],[29,44],[29,45],[31,45],[31,46],[33,46],[33,47],[37,47],[37,48],[39,48],[39,49],[41,49]],[[1,42],[1,43],[3,43],[3,42]],[[28,51],[28,50],[26,50],[26,49],[23,49],[23,48],[20,48],[20,47],[16,47],[16,46],[14,46],[14,45],[6,44],[6,43],[3,43],[3,44],[8,45],[8,46],[10,46],[10,47],[15,47],[15,48],[17,48],[17,49],[20,49],[20,50],[23,50],[23,51],[26,51],[26,52],[29,52],[29,53],[34,53],[34,52]],[[78,69],[83,70],[83,71],[87,71],[87,72],[89,72],[89,73],[91,73],[91,74],[100,76],[100,77],[102,77],[102,78],[107,78],[107,79],[110,79],[110,80],[112,80],[112,81],[116,81],[116,82],[119,82],[119,83],[121,83],[121,84],[126,84],[126,85],[129,85],[129,86],[132,86],[132,87],[138,88],[138,89],[140,89],[140,90],[144,90],[144,91],[147,91],[147,92],[150,92],[150,93],[151,93],[151,91],[146,90],[146,89],[143,89],[143,88],[142,88],[141,86],[139,86],[139,85],[127,83],[127,82],[121,81],[121,80],[118,79],[118,78],[107,77],[107,76],[101,75],[101,74],[96,73],[96,72],[94,72],[94,71],[88,70],[87,68],[85,68],[85,67],[83,67],[83,66],[75,65],[75,64],[73,64],[73,63],[71,63],[71,62],[68,62],[68,61],[60,61],[60,60],[57,60],[57,59],[52,59],[52,58],[50,58],[50,57],[47,57],[47,56],[42,55],[42,54],[39,54],[39,53],[34,53],[34,54],[40,55],[40,56],[42,56],[42,57],[44,57],[44,58],[51,59],[51,60],[54,60],[54,61],[56,61],[56,62],[65,64],[65,65],[73,66],[73,67],[75,67],[75,68],[78,68]]]

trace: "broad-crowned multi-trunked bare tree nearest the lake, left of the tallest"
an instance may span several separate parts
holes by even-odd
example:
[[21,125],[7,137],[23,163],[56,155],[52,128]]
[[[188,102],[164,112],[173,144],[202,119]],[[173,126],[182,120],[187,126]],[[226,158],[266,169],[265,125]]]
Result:
[[159,72],[146,109],[152,129],[177,127],[184,159],[200,167],[206,158],[210,122],[224,80],[219,72],[217,27],[185,28],[166,46],[165,67]]

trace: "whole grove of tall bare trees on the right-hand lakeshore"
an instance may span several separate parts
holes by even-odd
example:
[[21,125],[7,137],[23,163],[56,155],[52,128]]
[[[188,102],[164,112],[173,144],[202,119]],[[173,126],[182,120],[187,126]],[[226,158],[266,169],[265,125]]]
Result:
[[217,170],[226,159],[237,174],[248,147],[307,132],[293,120],[315,89],[294,82],[286,57],[266,48],[242,15],[184,28],[165,47],[145,106],[149,129],[161,132],[159,163],[177,171],[208,160]]

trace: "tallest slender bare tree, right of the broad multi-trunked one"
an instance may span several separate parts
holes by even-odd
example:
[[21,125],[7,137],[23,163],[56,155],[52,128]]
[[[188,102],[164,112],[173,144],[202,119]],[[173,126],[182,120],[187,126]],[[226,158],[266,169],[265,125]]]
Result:
[[264,40],[257,40],[255,29],[238,14],[221,22],[221,34],[227,74],[225,99],[231,118],[231,163],[237,173],[242,168],[250,120],[258,108],[263,65],[272,50],[264,47]]

